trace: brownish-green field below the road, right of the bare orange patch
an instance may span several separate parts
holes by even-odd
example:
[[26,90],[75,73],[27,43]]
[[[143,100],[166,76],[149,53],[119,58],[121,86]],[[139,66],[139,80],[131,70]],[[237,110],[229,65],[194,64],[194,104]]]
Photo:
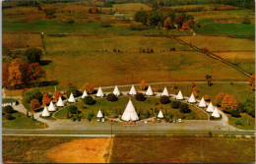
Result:
[[254,154],[254,139],[129,136],[114,138],[110,162],[252,163]]

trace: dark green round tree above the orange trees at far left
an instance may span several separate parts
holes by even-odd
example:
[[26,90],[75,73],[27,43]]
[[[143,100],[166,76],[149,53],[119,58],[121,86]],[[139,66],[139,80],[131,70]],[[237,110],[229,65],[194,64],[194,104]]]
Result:
[[37,48],[29,48],[25,51],[29,63],[39,63],[42,57],[42,52]]

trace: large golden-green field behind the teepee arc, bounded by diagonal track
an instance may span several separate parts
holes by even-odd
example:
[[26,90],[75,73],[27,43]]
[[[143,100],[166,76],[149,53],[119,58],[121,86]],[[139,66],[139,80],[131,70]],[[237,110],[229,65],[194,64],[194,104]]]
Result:
[[[212,74],[215,81],[247,81],[239,72],[187,46],[163,37],[90,36],[45,37],[47,55],[52,61],[44,66],[48,81],[58,81],[59,87],[73,82],[97,85],[132,82],[166,82],[205,80]],[[139,48],[153,48],[155,53],[139,53]],[[169,51],[175,47],[176,51]],[[121,53],[113,53],[117,48]],[[102,52],[107,50],[107,52]],[[164,50],[165,52],[160,52]],[[61,58],[61,60],[59,60]],[[132,78],[133,77],[133,78]],[[133,81],[132,81],[133,79]]]

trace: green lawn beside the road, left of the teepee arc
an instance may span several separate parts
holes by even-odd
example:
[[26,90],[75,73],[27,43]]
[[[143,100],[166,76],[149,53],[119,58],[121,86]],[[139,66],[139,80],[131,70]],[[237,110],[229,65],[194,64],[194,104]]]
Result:
[[8,130],[29,130],[29,129],[43,129],[47,126],[38,121],[32,121],[25,114],[17,112],[12,114],[13,120],[6,120],[3,115],[2,128]]

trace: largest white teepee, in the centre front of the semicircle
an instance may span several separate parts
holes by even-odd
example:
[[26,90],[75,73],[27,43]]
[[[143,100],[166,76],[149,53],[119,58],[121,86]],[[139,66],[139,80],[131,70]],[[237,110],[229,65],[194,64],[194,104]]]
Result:
[[136,120],[139,120],[139,117],[136,113],[136,110],[133,106],[133,103],[131,100],[129,100],[124,112],[123,112],[123,115],[122,115],[122,120],[124,121],[136,121]]

